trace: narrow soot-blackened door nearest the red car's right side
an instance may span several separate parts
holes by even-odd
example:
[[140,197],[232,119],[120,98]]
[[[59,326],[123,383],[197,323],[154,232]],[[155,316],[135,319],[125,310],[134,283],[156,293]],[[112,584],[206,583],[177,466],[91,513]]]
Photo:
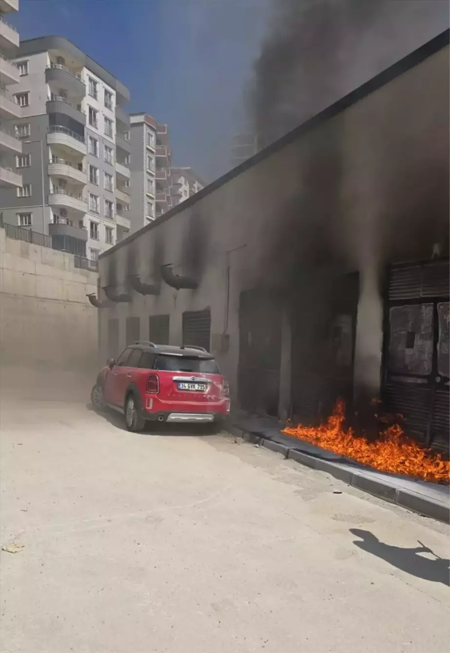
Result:
[[241,293],[238,398],[244,410],[278,415],[280,363],[279,302],[264,291]]

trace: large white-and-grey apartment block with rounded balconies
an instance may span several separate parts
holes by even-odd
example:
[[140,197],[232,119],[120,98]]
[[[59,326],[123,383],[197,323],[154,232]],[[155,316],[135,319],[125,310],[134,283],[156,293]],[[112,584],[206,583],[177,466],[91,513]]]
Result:
[[0,190],[3,221],[95,261],[131,229],[129,90],[62,37],[22,41],[14,56],[22,116],[8,125],[23,180]]

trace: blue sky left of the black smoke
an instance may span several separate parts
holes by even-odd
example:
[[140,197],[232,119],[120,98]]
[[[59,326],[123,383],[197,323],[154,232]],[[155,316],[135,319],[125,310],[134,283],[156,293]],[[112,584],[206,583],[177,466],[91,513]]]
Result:
[[21,39],[61,35],[131,91],[131,112],[168,123],[177,165],[229,167],[242,91],[270,0],[20,0]]

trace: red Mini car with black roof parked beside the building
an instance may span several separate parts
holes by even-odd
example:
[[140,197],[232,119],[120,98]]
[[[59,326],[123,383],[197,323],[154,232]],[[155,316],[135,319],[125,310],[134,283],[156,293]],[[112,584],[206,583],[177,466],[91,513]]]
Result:
[[91,392],[97,410],[125,415],[129,431],[146,421],[219,422],[230,411],[229,386],[202,347],[155,345],[139,340],[100,370]]

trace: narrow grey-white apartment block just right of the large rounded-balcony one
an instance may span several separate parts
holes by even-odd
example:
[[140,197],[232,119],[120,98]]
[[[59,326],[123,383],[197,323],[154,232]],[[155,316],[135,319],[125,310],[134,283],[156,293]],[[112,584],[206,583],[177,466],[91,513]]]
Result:
[[131,231],[138,231],[156,217],[157,122],[148,114],[131,114]]

